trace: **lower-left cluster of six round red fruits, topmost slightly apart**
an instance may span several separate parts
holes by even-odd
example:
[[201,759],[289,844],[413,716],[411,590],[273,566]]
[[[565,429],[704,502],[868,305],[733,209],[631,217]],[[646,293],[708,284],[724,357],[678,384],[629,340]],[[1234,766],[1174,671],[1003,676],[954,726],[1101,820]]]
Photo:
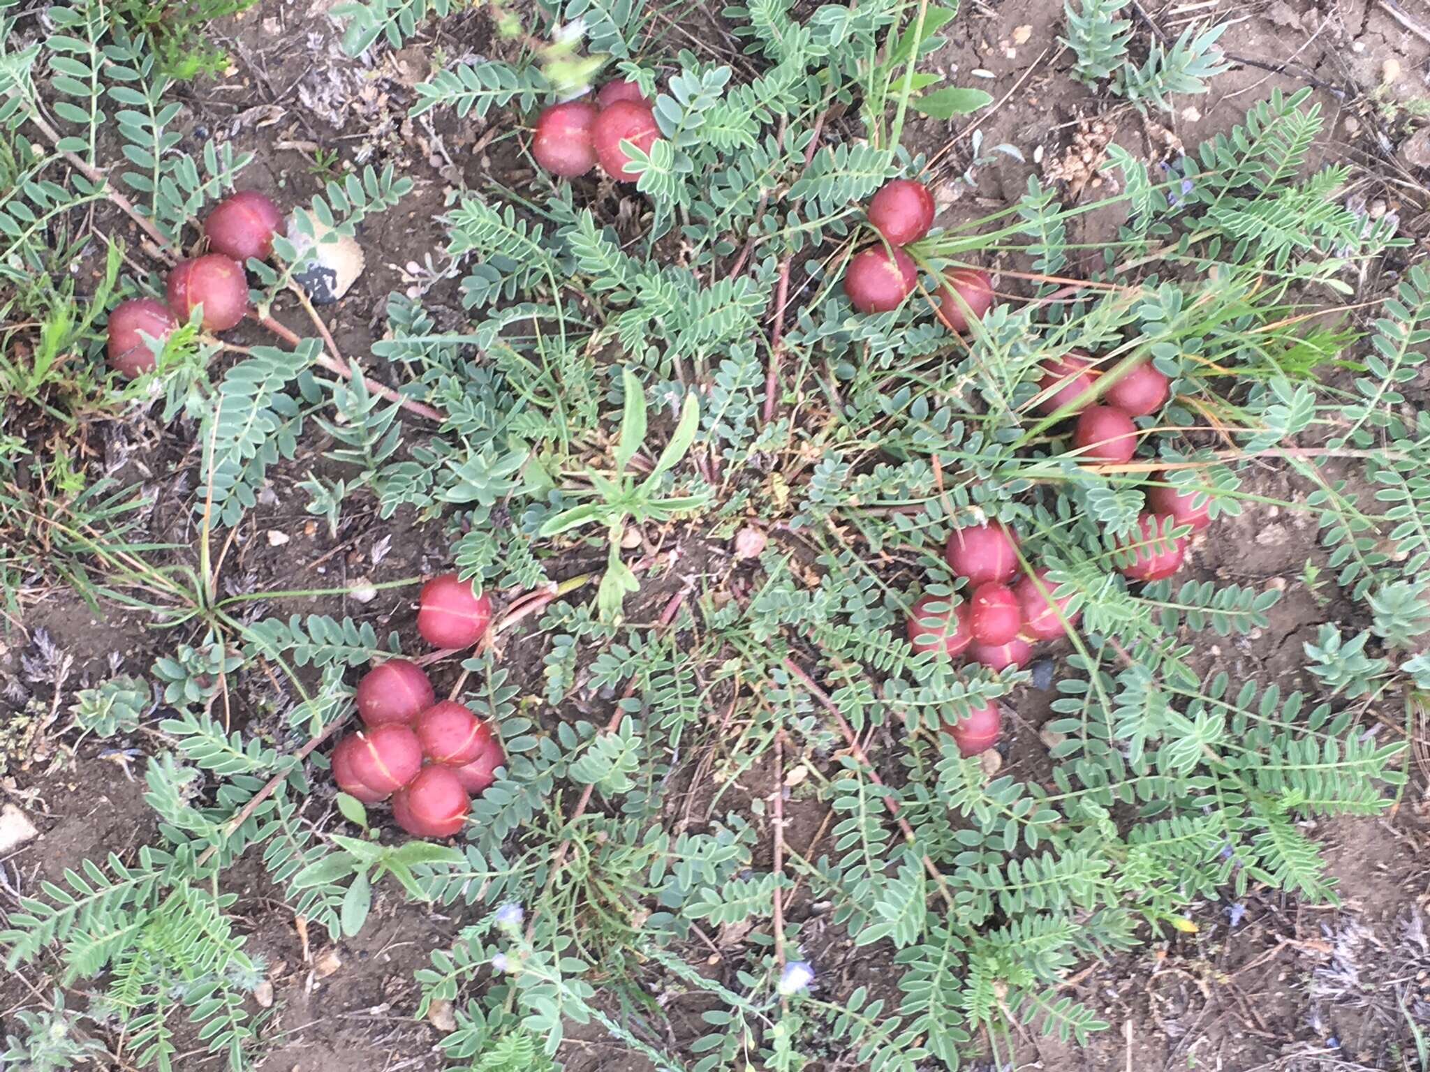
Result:
[[[422,586],[418,633],[436,647],[470,647],[492,622],[492,600],[456,573]],[[438,700],[428,675],[389,659],[358,683],[365,729],[337,742],[333,780],[363,803],[392,798],[392,818],[418,838],[462,829],[506,756],[492,728],[453,700]]]

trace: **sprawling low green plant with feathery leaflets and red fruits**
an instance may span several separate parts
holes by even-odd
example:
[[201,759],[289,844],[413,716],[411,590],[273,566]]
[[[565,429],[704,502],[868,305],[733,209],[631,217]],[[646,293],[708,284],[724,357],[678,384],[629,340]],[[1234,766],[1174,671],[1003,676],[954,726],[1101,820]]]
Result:
[[[347,46],[398,44],[429,9],[446,4],[349,4]],[[16,180],[0,203],[11,286],[53,256],[27,216],[116,204],[114,182],[176,246],[243,163],[182,154],[153,56],[89,0],[56,10],[56,36],[0,44],[0,121],[56,176]],[[97,597],[182,632],[152,670],[173,706],[144,772],[159,838],[40,886],[0,932],[11,969],[57,946],[57,976],[92,981],[134,1063],[174,1065],[179,1012],[230,1068],[257,1063],[269,1013],[246,996],[265,965],[226,885],[245,853],[335,941],[368,922],[379,880],[458,919],[408,1012],[450,1003],[443,1048],[468,1066],[556,1066],[568,1023],[691,1072],[792,1072],[817,1053],[881,1072],[957,1068],[974,1049],[1002,1062],[1015,1028],[1078,1043],[1104,1028],[1068,976],[1195,929],[1221,890],[1333,900],[1306,820],[1379,813],[1404,782],[1404,743],[1357,718],[1430,679],[1404,650],[1426,626],[1430,423],[1403,413],[1430,276],[1343,203],[1347,169],[1304,173],[1321,124],[1308,96],[1273,94],[1171,177],[1110,147],[1118,193],[1097,207],[1124,222],[1097,250],[1067,239],[1094,206],[1064,207],[1035,177],[1015,204],[945,229],[898,186],[918,212],[877,210],[875,229],[878,192],[924,189],[932,169],[901,144],[909,110],[987,103],[918,70],[952,10],[751,3],[724,17],[739,57],[672,54],[641,6],[542,9],[542,34],[582,19],[631,83],[589,124],[569,109],[538,119],[602,63],[569,40],[558,64],[523,41],[416,87],[416,113],[536,126],[541,167],[519,190],[495,174],[452,194],[440,270],[469,323],[443,332],[389,299],[373,356],[390,364],[390,405],[325,339],[296,334],[209,382],[217,346],[194,342],[200,324],[297,300],[307,253],[287,233],[265,230],[257,286],[226,309],[189,309],[170,286],[189,349],[156,343],[139,372],[162,384],[166,419],[197,417],[194,547],[114,542],[122,525],[74,505],[44,522],[103,579]],[[1141,64],[1115,24],[1072,33],[1093,41],[1087,56],[1074,43],[1084,76],[1141,106],[1217,69],[1217,30],[1154,43]],[[76,53],[83,93],[30,73]],[[72,97],[54,110],[63,131],[41,106],[56,91]],[[146,163],[100,180],[102,103],[136,99],[154,110],[122,136],[146,143]],[[596,163],[633,182],[588,176]],[[297,232],[352,237],[410,187],[390,169],[333,182]],[[1373,262],[1399,273],[1379,302],[1356,293]],[[1364,320],[1348,307],[1373,302]],[[70,344],[102,367],[97,339]],[[260,509],[313,427],[337,445],[339,476],[306,485],[333,532],[360,505],[448,536],[450,572],[413,592],[406,633],[265,609],[346,586],[220,583],[216,533]],[[31,449],[14,435],[0,457]],[[1271,463],[1303,502],[1256,483]],[[1210,542],[1273,503],[1313,520],[1323,583],[1356,605],[1307,645],[1314,695],[1210,660],[1208,633],[1266,629],[1280,593],[1185,565],[1207,546],[1195,532]],[[36,510],[9,483],[0,506],[6,525]],[[452,705],[419,689],[392,715],[362,685],[355,702],[346,678],[393,666],[412,632],[455,652]],[[990,749],[1028,695],[1034,643],[1061,645],[1048,762],[998,770]],[[511,659],[518,645],[541,659]],[[235,728],[230,682],[259,673],[276,710]],[[76,716],[132,733],[142,693],[100,686]],[[337,743],[355,706],[369,729]],[[502,758],[483,790],[458,776],[473,725]],[[329,742],[333,776],[312,778]],[[389,795],[405,830],[460,830],[458,848],[393,840]],[[326,800],[363,836],[336,832]],[[795,806],[822,819],[799,843]],[[818,925],[789,912],[797,898],[821,905]],[[714,932],[719,979],[699,968]],[[882,958],[877,986],[821,973],[844,941]],[[672,1045],[652,992],[698,995],[708,1031]]]

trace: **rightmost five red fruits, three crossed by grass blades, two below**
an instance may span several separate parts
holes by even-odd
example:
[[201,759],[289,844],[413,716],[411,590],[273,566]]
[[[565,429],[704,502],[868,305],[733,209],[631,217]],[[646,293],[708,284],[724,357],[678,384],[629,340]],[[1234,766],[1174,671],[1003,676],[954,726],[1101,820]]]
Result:
[[[1068,409],[1077,413],[1072,443],[1084,462],[1108,462],[1123,465],[1137,453],[1137,425],[1133,417],[1147,417],[1167,405],[1171,382],[1141,362],[1121,372],[1117,380],[1101,393],[1101,402],[1093,403],[1097,393],[1098,369],[1093,362],[1078,354],[1067,354],[1044,364],[1044,376],[1038,383],[1042,400],[1040,410],[1054,413]],[[1207,502],[1194,506],[1195,495],[1180,493],[1167,485],[1165,473],[1154,473],[1145,493],[1147,509],[1138,516],[1138,537],[1134,542],[1158,540],[1167,519],[1177,525],[1190,525],[1193,532],[1201,532],[1210,525]],[[1160,540],[1158,540],[1160,542]],[[1187,539],[1180,537],[1167,545],[1165,550],[1137,550],[1137,560],[1123,569],[1133,580],[1160,580],[1177,572],[1187,555]]]

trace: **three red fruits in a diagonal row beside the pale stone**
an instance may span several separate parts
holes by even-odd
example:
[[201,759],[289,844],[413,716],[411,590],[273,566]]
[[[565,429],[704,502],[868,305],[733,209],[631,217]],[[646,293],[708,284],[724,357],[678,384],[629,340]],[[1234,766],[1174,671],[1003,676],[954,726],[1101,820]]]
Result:
[[203,222],[210,253],[182,260],[169,270],[169,302],[136,297],[120,302],[109,314],[109,363],[133,379],[154,367],[154,354],[144,342],[163,342],[203,307],[203,330],[226,332],[249,309],[249,283],[243,264],[249,257],[266,260],[273,253],[273,236],[282,224],[277,206],[256,190],[239,190],[219,202]]

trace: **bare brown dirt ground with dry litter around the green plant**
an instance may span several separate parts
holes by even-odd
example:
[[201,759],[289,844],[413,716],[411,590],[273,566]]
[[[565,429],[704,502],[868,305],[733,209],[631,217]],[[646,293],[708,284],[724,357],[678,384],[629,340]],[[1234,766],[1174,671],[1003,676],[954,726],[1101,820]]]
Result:
[[[423,290],[429,307],[449,324],[462,323],[455,282],[433,276],[428,267],[442,263],[438,213],[456,189],[482,189],[493,176],[521,187],[523,176],[512,164],[499,126],[459,121],[450,114],[430,121],[406,117],[412,86],[429,76],[433,54],[463,57],[490,47],[479,13],[432,24],[399,53],[378,50],[376,59],[355,61],[337,49],[337,29],[326,7],[325,0],[265,0],[220,27],[220,43],[230,50],[233,66],[223,79],[192,87],[182,123],[190,147],[216,139],[255,152],[247,184],[282,190],[289,202],[312,194],[327,177],[315,164],[320,150],[337,153],[340,166],[393,163],[416,182],[396,212],[376,217],[362,232],[368,270],[329,317],[343,352],[365,354],[380,337],[392,290]],[[1181,110],[1160,126],[1115,100],[1091,96],[1067,77],[1070,56],[1057,40],[1057,0],[975,0],[965,6],[950,27],[950,44],[932,61],[955,83],[987,89],[998,101],[977,123],[984,157],[994,146],[1012,146],[1024,163],[1005,153],[971,160],[971,124],[914,123],[909,144],[937,154],[945,222],[1015,200],[1030,170],[1045,173],[1055,162],[1070,160],[1080,133],[1094,142],[1111,136],[1140,157],[1164,160],[1238,121],[1246,107],[1273,87],[1291,91],[1311,84],[1326,116],[1323,159],[1350,162],[1356,192],[1367,203],[1380,202],[1384,210],[1399,213],[1414,237],[1424,236],[1424,226],[1417,229],[1413,222],[1426,204],[1417,200],[1411,164],[1397,154],[1397,146],[1406,133],[1404,106],[1430,94],[1430,37],[1423,30],[1430,26],[1430,6],[1413,3],[1403,20],[1393,13],[1401,9],[1377,0],[1323,6],[1303,0],[1188,3],[1161,10],[1138,7],[1134,0],[1134,9],[1138,33],[1167,37],[1194,19],[1230,19],[1234,27],[1223,44],[1246,61],[1220,76],[1210,94],[1184,99]],[[1070,239],[1105,236],[1114,224],[1087,217],[1087,232]],[[259,342],[243,339],[242,332],[235,337]],[[1413,386],[1420,392],[1427,387]],[[116,432],[129,436],[116,449],[136,450],[143,435]],[[430,532],[422,545],[415,529],[393,532],[389,525],[379,526],[373,515],[350,510],[335,539],[303,512],[303,496],[293,485],[325,446],[315,440],[295,463],[280,467],[272,500],[260,505],[239,533],[236,573],[256,587],[286,589],[310,585],[315,576],[332,583],[356,576],[380,582],[440,565],[443,545]],[[157,476],[166,472],[189,472],[192,479],[194,460],[190,452],[172,459],[169,469],[154,466],[154,479],[170,479]],[[1276,486],[1268,495],[1294,499],[1277,483],[1278,475],[1268,470],[1264,480],[1267,489]],[[179,499],[160,496],[149,527],[156,539],[192,543],[187,512],[163,505]],[[1276,680],[1294,689],[1306,683],[1298,675],[1301,643],[1338,610],[1321,606],[1297,580],[1306,560],[1317,556],[1313,526],[1294,512],[1243,517],[1233,525],[1230,539],[1194,545],[1191,569],[1227,582],[1281,579],[1286,599],[1274,607],[1266,630],[1224,640],[1208,657],[1240,679]],[[273,547],[269,532],[290,540]],[[382,539],[389,533],[390,550]],[[6,686],[0,689],[0,720],[11,725],[34,718],[34,712],[43,722],[44,710],[63,710],[74,690],[109,676],[113,667],[143,672],[156,645],[169,643],[140,622],[109,610],[96,613],[66,592],[24,595],[23,619],[0,637],[0,685]],[[362,613],[379,632],[412,619],[406,596],[392,593],[362,609],[335,600],[272,607],[275,613],[310,609]],[[526,685],[539,689],[539,657],[522,662]],[[1038,726],[1051,699],[1050,692],[1034,689],[1015,696],[1018,720],[1007,743],[1005,773],[1045,776],[1048,760]],[[1404,712],[1370,716],[1387,739],[1406,732]],[[57,725],[63,719],[51,729]],[[1427,1068],[1416,1045],[1417,1035],[1423,1039],[1430,1033],[1430,768],[1423,759],[1424,719],[1410,719],[1409,729],[1416,749],[1407,753],[1411,779],[1399,806],[1379,820],[1337,822],[1317,830],[1340,882],[1340,908],[1307,908],[1256,888],[1240,902],[1204,903],[1195,913],[1197,933],[1088,965],[1068,983],[1067,991],[1097,1009],[1110,1031],[1085,1049],[1032,1033],[1015,1038],[1018,1066],[1068,1072]],[[140,739],[136,746],[143,749],[144,743]],[[136,773],[142,760],[139,768],[130,760],[87,742],[70,762],[61,742],[43,732],[29,755],[9,756],[0,789],[34,818],[43,836],[0,859],[0,899],[7,906],[17,890],[34,889],[84,856],[123,855],[153,835],[153,816]],[[332,800],[315,795],[312,806],[330,808]],[[789,808],[791,843],[799,843],[801,830],[812,828],[821,812],[798,799]],[[273,985],[273,1019],[265,1028],[272,1051],[263,1069],[398,1072],[443,1066],[436,1052],[438,1029],[412,1019],[418,1002],[412,973],[462,925],[459,915],[435,915],[385,890],[358,939],[329,951],[315,935],[305,949],[262,868],[245,872],[240,866],[237,873],[246,875],[246,882],[235,889],[240,895],[236,912],[250,929],[249,949],[266,959]],[[799,919],[812,909],[797,903],[789,912]],[[817,926],[812,933],[818,933]],[[325,975],[320,965],[332,965],[325,963],[329,952],[340,963]],[[825,981],[878,973],[867,951],[854,951],[834,929],[822,945],[811,942],[808,952],[821,963]],[[51,988],[53,979],[43,971],[0,979],[0,1033],[11,1026],[16,1009],[33,1008]],[[698,1031],[694,1015],[689,1028]],[[571,1038],[563,1055],[573,1072],[648,1068],[599,1031],[573,1029]],[[199,1052],[186,1055],[187,1063],[179,1068],[202,1063]]]

